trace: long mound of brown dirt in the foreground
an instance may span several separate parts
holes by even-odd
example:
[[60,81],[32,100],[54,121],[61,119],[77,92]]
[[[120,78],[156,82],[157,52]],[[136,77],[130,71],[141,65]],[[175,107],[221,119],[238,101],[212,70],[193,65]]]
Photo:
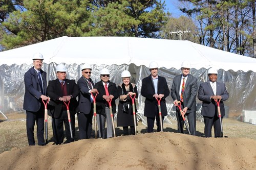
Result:
[[256,140],[156,132],[0,154],[0,169],[255,169]]

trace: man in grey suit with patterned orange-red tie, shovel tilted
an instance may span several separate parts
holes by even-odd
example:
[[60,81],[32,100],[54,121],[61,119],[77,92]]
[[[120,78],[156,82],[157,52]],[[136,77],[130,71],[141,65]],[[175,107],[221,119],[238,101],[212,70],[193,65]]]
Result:
[[183,133],[184,120],[181,115],[183,114],[184,116],[187,116],[190,134],[196,135],[196,96],[198,84],[197,78],[189,74],[190,67],[188,61],[182,62],[182,75],[174,78],[172,88],[170,89],[170,95],[174,100],[175,106],[178,105],[178,101],[181,101],[182,113],[180,113],[179,108],[176,107],[178,132]]

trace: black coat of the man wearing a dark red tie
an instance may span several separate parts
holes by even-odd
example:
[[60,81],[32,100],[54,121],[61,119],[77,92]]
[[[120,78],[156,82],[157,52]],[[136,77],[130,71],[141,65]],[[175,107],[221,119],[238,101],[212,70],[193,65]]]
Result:
[[[73,98],[69,104],[70,114],[75,114],[78,111],[78,103],[76,97],[79,94],[78,86],[75,80],[65,80],[65,84],[67,85],[68,95],[72,95]],[[51,98],[48,105],[48,114],[53,118],[59,118],[62,112],[63,102],[59,101],[59,98],[63,96],[61,90],[61,84],[58,79],[49,81],[47,87],[47,93],[49,98]]]

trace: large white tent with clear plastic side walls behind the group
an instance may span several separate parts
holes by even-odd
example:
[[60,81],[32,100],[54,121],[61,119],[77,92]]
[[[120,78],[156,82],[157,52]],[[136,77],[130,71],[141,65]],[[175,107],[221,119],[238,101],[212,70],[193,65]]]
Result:
[[[94,82],[99,80],[98,72],[102,67],[110,69],[111,81],[116,84],[121,82],[121,72],[127,69],[138,91],[142,79],[150,74],[147,67],[151,61],[158,62],[161,67],[159,74],[166,78],[169,88],[174,76],[181,73],[184,60],[190,61],[193,67],[191,74],[198,78],[198,83],[207,80],[206,69],[216,67],[219,68],[218,81],[226,84],[230,94],[225,103],[229,111],[239,116],[243,110],[256,110],[256,59],[190,41],[67,36],[0,52],[0,110],[22,111],[24,74],[31,67],[32,56],[36,52],[44,55],[43,69],[47,71],[48,80],[56,79],[56,64],[65,63],[68,78],[77,81],[81,76],[80,66],[89,63],[93,64]],[[143,102],[141,95],[139,102]],[[172,104],[170,96],[167,104]]]

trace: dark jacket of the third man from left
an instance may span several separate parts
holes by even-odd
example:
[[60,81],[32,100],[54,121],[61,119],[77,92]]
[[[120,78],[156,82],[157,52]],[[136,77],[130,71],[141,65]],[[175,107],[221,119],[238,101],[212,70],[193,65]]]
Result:
[[[94,86],[94,83],[92,80],[90,80],[92,85]],[[92,89],[90,85],[88,84],[88,81],[86,78],[81,77],[77,81],[77,85],[79,88],[79,95],[78,95],[78,108],[80,113],[89,114],[92,113],[92,103],[91,103],[91,93],[89,93],[89,90]]]

